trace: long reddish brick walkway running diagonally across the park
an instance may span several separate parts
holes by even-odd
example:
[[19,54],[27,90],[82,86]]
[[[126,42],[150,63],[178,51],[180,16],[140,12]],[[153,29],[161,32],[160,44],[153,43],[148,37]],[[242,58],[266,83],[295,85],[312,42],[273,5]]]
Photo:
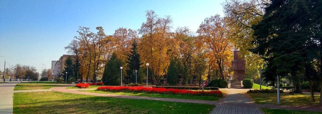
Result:
[[[225,110],[227,106],[231,109],[242,109],[244,112],[243,114],[262,114],[261,111],[258,109],[260,108],[266,108],[266,109],[289,109],[289,110],[305,110],[305,111],[319,111],[322,112],[322,106],[316,106],[316,107],[296,107],[296,106],[284,106],[284,105],[267,105],[267,104],[255,104],[253,101],[250,101],[246,96],[244,96],[243,99],[239,99],[238,102],[232,102],[232,99],[238,98],[240,92],[237,92],[237,94],[230,96],[226,96],[223,100],[220,101],[207,101],[207,100],[186,100],[186,99],[169,99],[169,98],[153,98],[153,97],[139,97],[139,96],[128,96],[128,95],[114,95],[114,94],[101,94],[101,93],[91,93],[91,92],[84,92],[84,91],[76,91],[72,89],[66,89],[66,87],[54,87],[50,88],[50,90],[54,91],[60,91],[60,92],[67,92],[67,93],[75,93],[75,94],[84,94],[84,95],[94,95],[94,96],[103,96],[103,97],[114,97],[114,98],[125,98],[125,99],[143,99],[143,100],[161,100],[161,101],[172,101],[172,102],[186,102],[186,103],[201,103],[201,104],[211,104],[216,105],[217,109],[213,109],[213,114],[221,114],[221,113],[229,113],[234,114],[232,112],[226,112],[220,110],[225,107]],[[230,100],[229,100],[230,99]],[[216,112],[216,110],[219,110]],[[249,110],[249,111],[246,111]],[[236,113],[238,114],[238,113]]]

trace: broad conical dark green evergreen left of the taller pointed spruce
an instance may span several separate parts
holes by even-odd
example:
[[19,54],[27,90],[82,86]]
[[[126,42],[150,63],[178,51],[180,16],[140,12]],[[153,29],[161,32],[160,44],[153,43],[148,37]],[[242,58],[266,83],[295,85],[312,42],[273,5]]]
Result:
[[121,60],[119,60],[115,53],[112,54],[108,63],[105,65],[102,81],[104,85],[120,85],[121,83]]

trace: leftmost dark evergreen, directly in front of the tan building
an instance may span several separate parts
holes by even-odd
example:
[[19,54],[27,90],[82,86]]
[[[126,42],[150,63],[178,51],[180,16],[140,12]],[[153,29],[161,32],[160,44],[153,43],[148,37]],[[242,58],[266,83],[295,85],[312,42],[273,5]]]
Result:
[[[66,60],[65,60],[65,67],[64,67],[64,70],[62,71],[62,77],[65,79],[65,80],[68,80],[69,78],[71,77],[74,77],[74,67],[73,67],[73,59],[71,57],[68,57]],[[66,75],[66,72],[67,72],[67,75]],[[67,79],[66,79],[66,76],[67,76]]]

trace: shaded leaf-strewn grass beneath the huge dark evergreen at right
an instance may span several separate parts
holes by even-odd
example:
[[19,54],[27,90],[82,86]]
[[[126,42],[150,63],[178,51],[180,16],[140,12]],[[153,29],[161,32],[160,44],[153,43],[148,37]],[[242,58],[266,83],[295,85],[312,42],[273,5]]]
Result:
[[[255,103],[259,104],[277,104],[277,93],[248,93]],[[309,94],[289,93],[280,94],[280,105],[289,106],[312,106],[319,103],[320,95],[314,95],[316,102],[311,102]]]

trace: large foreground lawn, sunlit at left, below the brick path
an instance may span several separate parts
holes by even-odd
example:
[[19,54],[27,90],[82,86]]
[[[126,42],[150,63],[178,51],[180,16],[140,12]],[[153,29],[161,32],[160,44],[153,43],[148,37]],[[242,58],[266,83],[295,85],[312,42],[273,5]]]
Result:
[[14,93],[15,114],[209,114],[214,105],[135,100],[56,91]]

